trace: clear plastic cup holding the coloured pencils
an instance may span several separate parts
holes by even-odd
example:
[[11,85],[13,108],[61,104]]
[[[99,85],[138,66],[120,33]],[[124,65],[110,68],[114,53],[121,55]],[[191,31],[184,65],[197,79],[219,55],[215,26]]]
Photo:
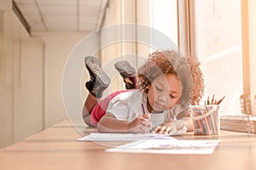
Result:
[[193,119],[195,135],[218,135],[219,125],[219,105],[191,105],[189,112]]

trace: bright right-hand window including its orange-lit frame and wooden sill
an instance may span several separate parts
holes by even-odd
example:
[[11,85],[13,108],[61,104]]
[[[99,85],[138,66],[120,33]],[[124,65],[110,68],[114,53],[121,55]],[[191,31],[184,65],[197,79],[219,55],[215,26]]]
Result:
[[[195,0],[189,11],[195,20],[196,55],[205,73],[206,94],[224,95],[221,128],[256,132],[256,101],[251,116],[241,113],[241,94],[255,95],[255,1]],[[252,97],[253,98],[253,97]]]

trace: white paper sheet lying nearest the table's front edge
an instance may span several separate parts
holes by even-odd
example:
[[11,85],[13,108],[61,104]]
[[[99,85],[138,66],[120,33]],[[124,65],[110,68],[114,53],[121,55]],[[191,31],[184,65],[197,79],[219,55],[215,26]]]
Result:
[[219,140],[145,139],[124,144],[107,152],[152,154],[212,154]]

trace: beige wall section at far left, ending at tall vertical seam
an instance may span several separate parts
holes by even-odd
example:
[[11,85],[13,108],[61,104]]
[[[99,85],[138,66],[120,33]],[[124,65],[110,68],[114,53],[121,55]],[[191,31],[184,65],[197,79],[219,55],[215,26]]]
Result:
[[0,147],[44,128],[44,41],[0,12]]

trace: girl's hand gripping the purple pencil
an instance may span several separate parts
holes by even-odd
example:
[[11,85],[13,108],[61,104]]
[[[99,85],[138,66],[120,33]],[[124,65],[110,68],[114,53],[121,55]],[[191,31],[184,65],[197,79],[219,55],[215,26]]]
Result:
[[131,133],[147,133],[149,128],[152,127],[149,114],[138,116],[135,120],[129,123],[129,131]]

